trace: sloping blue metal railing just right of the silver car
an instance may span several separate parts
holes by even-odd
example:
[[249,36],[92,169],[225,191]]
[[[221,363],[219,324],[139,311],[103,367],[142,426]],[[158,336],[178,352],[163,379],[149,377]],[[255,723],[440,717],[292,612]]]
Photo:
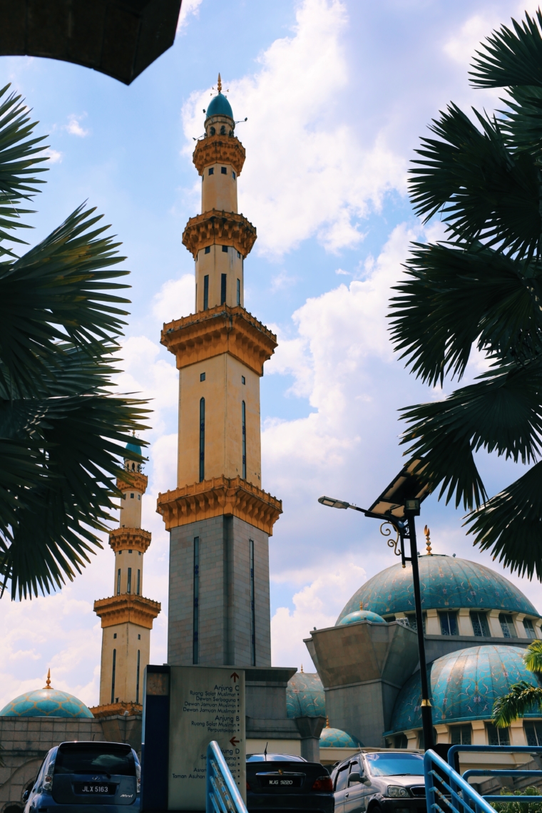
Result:
[[[453,764],[445,763],[435,751],[425,752],[423,770],[427,813],[495,813],[489,802],[457,773]],[[499,798],[502,801],[502,797]]]

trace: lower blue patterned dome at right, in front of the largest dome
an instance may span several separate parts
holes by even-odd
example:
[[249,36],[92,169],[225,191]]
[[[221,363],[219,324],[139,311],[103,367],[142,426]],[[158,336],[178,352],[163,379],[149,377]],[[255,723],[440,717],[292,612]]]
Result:
[[[437,658],[427,673],[430,677],[433,724],[460,723],[491,718],[493,702],[509,692],[519,680],[540,686],[523,663],[525,650],[518,646],[471,646]],[[397,695],[392,728],[397,733],[422,727],[419,671],[406,681]],[[540,711],[531,715],[540,717]]]

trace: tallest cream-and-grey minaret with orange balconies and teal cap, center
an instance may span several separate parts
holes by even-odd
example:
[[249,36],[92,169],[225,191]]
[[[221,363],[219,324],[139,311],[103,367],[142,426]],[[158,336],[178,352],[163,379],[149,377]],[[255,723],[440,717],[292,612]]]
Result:
[[219,76],[193,153],[202,214],[183,234],[196,312],[162,332],[179,369],[177,488],[158,496],[171,532],[172,665],[271,665],[268,539],[282,503],[261,488],[259,380],[276,337],[243,307],[256,229],[237,213],[245,149],[234,129]]

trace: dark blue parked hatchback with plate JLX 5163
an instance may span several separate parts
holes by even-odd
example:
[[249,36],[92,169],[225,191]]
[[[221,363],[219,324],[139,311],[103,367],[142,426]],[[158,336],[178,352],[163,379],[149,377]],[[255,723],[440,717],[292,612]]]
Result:
[[[122,742],[62,742],[41,763],[36,781],[24,792],[24,813],[139,811],[141,767],[136,752]],[[127,811],[128,813],[128,811]]]

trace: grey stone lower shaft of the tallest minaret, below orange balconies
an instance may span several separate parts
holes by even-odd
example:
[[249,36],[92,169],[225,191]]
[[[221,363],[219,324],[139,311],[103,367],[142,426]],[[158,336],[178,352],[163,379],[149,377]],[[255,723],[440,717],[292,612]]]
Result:
[[199,537],[199,663],[251,663],[249,540],[254,541],[256,666],[271,666],[267,533],[233,516],[173,528],[167,663],[193,663],[193,550]]

